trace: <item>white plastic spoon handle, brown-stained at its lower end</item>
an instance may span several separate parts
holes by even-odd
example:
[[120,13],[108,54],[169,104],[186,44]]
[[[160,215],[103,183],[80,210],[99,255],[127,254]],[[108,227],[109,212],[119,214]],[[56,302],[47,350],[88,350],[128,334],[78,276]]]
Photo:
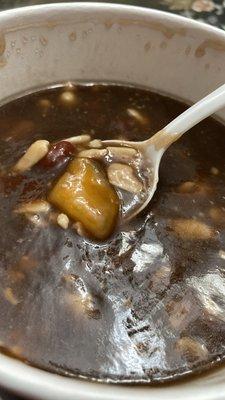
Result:
[[225,107],[225,84],[188,108],[160,131],[166,139],[165,147],[167,148],[190,128],[223,107]]

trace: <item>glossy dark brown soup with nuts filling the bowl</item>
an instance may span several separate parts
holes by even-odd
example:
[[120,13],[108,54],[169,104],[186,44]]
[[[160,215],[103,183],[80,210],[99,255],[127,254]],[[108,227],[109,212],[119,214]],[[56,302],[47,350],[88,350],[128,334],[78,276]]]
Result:
[[[51,166],[12,171],[35,140],[142,140],[185,108],[116,85],[57,87],[1,107],[2,352],[112,382],[168,381],[223,360],[223,125],[208,119],[171,146],[147,209],[105,241],[83,237],[46,202],[68,148]],[[40,199],[39,211],[26,209]]]

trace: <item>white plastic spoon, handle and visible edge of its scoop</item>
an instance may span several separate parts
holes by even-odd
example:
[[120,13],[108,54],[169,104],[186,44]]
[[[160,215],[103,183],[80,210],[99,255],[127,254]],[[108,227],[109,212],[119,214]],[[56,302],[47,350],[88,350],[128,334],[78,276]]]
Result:
[[139,175],[141,174],[144,190],[139,196],[136,196],[135,201],[124,205],[123,217],[125,219],[135,217],[152,199],[159,180],[159,164],[168,147],[193,126],[223,107],[225,107],[225,84],[188,108],[148,140],[143,142],[107,140],[104,142],[107,146],[132,147],[138,151],[140,156],[134,166],[136,165]]

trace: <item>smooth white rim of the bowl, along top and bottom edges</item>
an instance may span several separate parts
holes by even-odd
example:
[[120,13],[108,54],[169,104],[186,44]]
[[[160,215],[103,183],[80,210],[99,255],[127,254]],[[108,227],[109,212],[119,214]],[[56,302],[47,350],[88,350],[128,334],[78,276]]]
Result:
[[[7,24],[15,21],[16,18],[29,17],[33,14],[36,17],[46,14],[48,11],[116,11],[130,16],[147,18],[153,17],[164,21],[176,22],[184,28],[191,28],[199,31],[214,33],[225,42],[225,32],[222,29],[208,25],[204,22],[195,21],[190,18],[172,14],[166,11],[145,8],[143,6],[124,5],[118,3],[100,2],[64,2],[42,5],[32,5],[20,8],[13,8],[0,12],[0,23]],[[213,371],[215,372],[215,371]],[[223,375],[224,376],[224,375]],[[188,386],[184,382],[175,384],[164,384],[162,386],[125,386],[107,383],[90,382],[86,379],[69,378],[50,373],[36,367],[25,364],[22,361],[0,354],[0,384],[2,387],[23,396],[32,396],[35,399],[61,400],[132,400],[140,396],[143,400],[161,400],[167,397],[172,400],[176,396],[182,400],[224,400],[225,382],[221,379],[218,383],[206,386],[202,385],[201,377],[195,378]],[[185,391],[181,388],[185,387]],[[220,390],[219,390],[220,389]]]

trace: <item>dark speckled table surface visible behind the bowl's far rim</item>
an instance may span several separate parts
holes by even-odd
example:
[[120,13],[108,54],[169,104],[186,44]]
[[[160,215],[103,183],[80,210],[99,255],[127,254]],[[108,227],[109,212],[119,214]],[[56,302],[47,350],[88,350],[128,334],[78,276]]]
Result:
[[[67,0],[69,1],[69,0]],[[70,0],[71,1],[71,0]],[[79,0],[84,1],[84,0]],[[93,2],[93,0],[89,0]],[[97,0],[96,0],[97,1]],[[44,0],[0,0],[0,11],[15,7],[45,3],[63,3],[61,1]],[[98,0],[103,3],[103,1]],[[76,1],[74,1],[76,3]],[[105,3],[122,3],[155,8],[158,10],[169,11],[175,14],[183,15],[187,18],[203,21],[208,24],[225,29],[225,0],[114,0],[105,1]],[[17,396],[11,395],[4,390],[0,390],[0,400],[23,400]]]

